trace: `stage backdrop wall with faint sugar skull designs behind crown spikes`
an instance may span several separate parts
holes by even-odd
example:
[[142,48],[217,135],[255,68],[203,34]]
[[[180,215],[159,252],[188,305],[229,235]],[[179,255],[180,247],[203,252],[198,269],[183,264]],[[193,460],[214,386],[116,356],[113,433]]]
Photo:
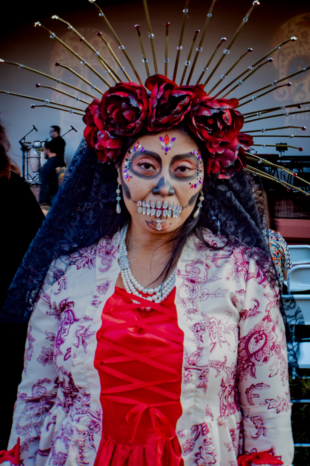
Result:
[[[153,0],[148,2],[149,12],[152,22],[154,34],[154,43],[158,61],[158,72],[164,74],[164,58],[165,58],[165,26],[166,21],[170,21],[169,27],[169,58],[168,77],[172,78],[174,62],[177,53],[178,39],[183,18],[184,0]],[[278,43],[284,41],[292,35],[296,35],[298,40],[289,42],[283,48],[272,55],[273,62],[262,67],[257,73],[248,79],[236,91],[228,97],[241,97],[247,93],[255,91],[264,85],[281,79],[285,75],[294,73],[299,69],[303,69],[310,65],[310,8],[309,3],[305,0],[291,2],[287,0],[262,0],[258,7],[254,8],[249,21],[244,25],[242,32],[239,34],[236,42],[231,47],[230,54],[226,55],[221,66],[208,83],[206,90],[210,90],[218,81],[221,75],[231,67],[232,63],[243,54],[247,48],[253,48],[253,52],[249,53],[236,69],[227,77],[224,83],[236,77],[244,69],[251,66],[261,56],[269,52]],[[105,1],[98,0],[98,4],[103,9],[108,20],[115,29],[122,43],[124,43],[126,51],[132,59],[136,69],[141,76],[142,81],[146,79],[145,65],[142,62],[142,54],[140,50],[137,32],[134,28],[136,23],[140,24],[140,30],[143,36],[146,55],[148,57],[148,65],[151,74],[154,73],[152,61],[152,52],[150,40],[148,38],[148,29],[145,21],[143,3],[139,1]],[[206,15],[208,13],[211,0],[191,0],[189,4],[188,20],[185,27],[185,35],[183,40],[183,50],[180,55],[178,67],[177,82],[183,73],[185,60],[194,36],[195,29],[200,29],[202,32]],[[227,41],[219,48],[218,54],[212,62],[209,70],[218,61],[223,53],[223,49],[227,47],[237,27],[242,21],[242,18],[251,7],[249,0],[217,0],[213,10],[213,16],[209,22],[207,34],[203,43],[203,51],[199,54],[198,63],[195,68],[191,83],[195,83],[200,75],[202,68],[208,61],[213,49],[221,40],[226,37]],[[105,79],[112,84],[112,79],[106,74],[105,70],[96,60],[90,50],[79,41],[77,36],[72,31],[68,30],[67,26],[60,21],[51,19],[53,14],[58,14],[60,17],[69,21],[79,32],[92,43],[93,47],[98,49],[110,66],[113,67],[120,75],[119,69],[114,64],[110,53],[108,52],[104,42],[96,35],[98,31],[102,32],[111,47],[115,51],[122,65],[130,75],[132,81],[136,78],[128,64],[125,56],[117,47],[116,42],[112,38],[111,32],[106,27],[102,18],[99,17],[99,11],[90,4],[87,0],[69,2],[67,0],[56,0],[42,5],[39,1],[27,2],[23,5],[7,4],[3,16],[3,28],[1,30],[0,39],[0,58],[12,62],[18,62],[34,69],[43,71],[49,75],[55,76],[62,81],[69,82],[80,89],[91,91],[93,96],[100,95],[91,90],[86,84],[80,82],[78,78],[70,72],[60,67],[55,67],[55,62],[60,62],[71,67],[87,80],[95,84],[102,91],[106,91],[106,85],[85,65],[81,64],[78,59],[61,47],[55,39],[50,38],[50,34],[41,27],[33,27],[35,21],[41,21],[41,24],[57,34],[87,62],[89,62],[97,71],[102,73]],[[198,39],[194,48],[198,46]],[[194,53],[191,60],[193,59]],[[190,67],[189,67],[190,68]],[[188,72],[187,72],[188,75]],[[187,77],[186,75],[186,77]],[[123,75],[122,75],[123,76]],[[208,72],[204,75],[204,80],[208,76]],[[186,82],[185,77],[185,82]],[[204,82],[203,80],[203,82]],[[0,89],[5,91],[17,92],[27,96],[49,99],[53,102],[65,103],[79,109],[85,109],[86,105],[81,102],[76,102],[70,97],[59,94],[51,89],[35,87],[36,83],[64,90],[73,96],[79,96],[90,102],[90,97],[83,96],[77,91],[71,90],[62,84],[35,75],[25,69],[1,63],[0,64]],[[310,70],[291,78],[292,86],[275,89],[269,93],[247,105],[241,107],[241,111],[249,112],[253,109],[264,109],[266,107],[275,107],[288,105],[292,103],[310,101]],[[223,87],[223,86],[222,86]],[[218,88],[220,89],[220,87]],[[213,93],[214,95],[214,93]],[[251,94],[252,95],[252,94]],[[255,93],[253,93],[255,95]],[[251,98],[251,97],[250,97]],[[247,100],[247,99],[246,99]],[[61,110],[53,110],[46,108],[31,109],[30,105],[36,103],[32,100],[22,99],[16,96],[0,94],[0,111],[2,121],[7,128],[7,134],[10,139],[12,149],[11,155],[21,164],[21,152],[18,141],[34,124],[38,132],[33,131],[26,140],[44,141],[48,137],[50,125],[57,124],[61,128],[61,134],[64,134],[70,129],[71,125],[78,130],[77,133],[71,131],[66,140],[66,162],[70,162],[78,144],[83,136],[84,123],[82,117],[78,115],[70,115]],[[37,102],[36,104],[39,104]],[[309,109],[309,104],[303,105],[301,110]],[[293,109],[297,110],[297,109]],[[284,110],[281,110],[284,113]],[[280,112],[279,112],[280,113]],[[289,117],[277,117],[262,120],[258,123],[247,123],[244,125],[244,131],[257,129],[260,127],[273,128],[279,126],[302,126],[307,127],[306,131],[301,130],[278,130],[276,134],[290,135],[302,134],[309,135],[309,114],[297,114]],[[262,134],[262,133],[258,133]],[[268,133],[266,133],[268,134]],[[279,139],[279,140],[278,140]],[[307,138],[280,140],[281,138],[265,138],[257,137],[256,141],[259,144],[275,144],[279,142],[287,142],[290,145],[302,146],[303,152],[298,152],[289,149],[291,155],[309,155],[310,141]],[[257,148],[259,153],[276,153],[275,148]]]

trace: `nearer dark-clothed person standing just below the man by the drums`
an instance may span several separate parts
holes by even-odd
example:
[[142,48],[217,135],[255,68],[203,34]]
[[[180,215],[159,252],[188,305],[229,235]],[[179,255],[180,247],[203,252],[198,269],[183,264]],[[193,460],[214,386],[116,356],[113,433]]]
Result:
[[40,206],[41,204],[52,204],[59,187],[56,168],[59,166],[66,166],[64,162],[61,162],[59,158],[57,158],[57,153],[53,151],[52,142],[46,142],[45,154],[47,162],[41,168]]

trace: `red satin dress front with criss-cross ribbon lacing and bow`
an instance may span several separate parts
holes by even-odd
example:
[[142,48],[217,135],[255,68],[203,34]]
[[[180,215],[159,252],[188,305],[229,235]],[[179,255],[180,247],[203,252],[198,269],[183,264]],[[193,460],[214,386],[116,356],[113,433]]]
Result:
[[184,333],[174,298],[175,289],[163,303],[137,298],[135,304],[116,287],[106,302],[94,362],[103,410],[95,466],[183,465],[175,426]]

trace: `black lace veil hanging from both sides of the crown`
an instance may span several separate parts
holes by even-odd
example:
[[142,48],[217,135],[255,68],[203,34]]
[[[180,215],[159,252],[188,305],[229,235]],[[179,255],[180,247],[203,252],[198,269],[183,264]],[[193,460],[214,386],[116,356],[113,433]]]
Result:
[[[111,231],[116,178],[115,167],[99,163],[96,153],[87,149],[83,139],[57,198],[14,277],[0,321],[13,325],[28,322],[51,262],[58,256],[90,246]],[[252,185],[244,171],[225,180],[210,177],[204,186],[204,209],[208,209],[220,233],[252,248],[253,258],[264,269],[268,280],[276,283],[277,274],[270,260],[264,222]]]

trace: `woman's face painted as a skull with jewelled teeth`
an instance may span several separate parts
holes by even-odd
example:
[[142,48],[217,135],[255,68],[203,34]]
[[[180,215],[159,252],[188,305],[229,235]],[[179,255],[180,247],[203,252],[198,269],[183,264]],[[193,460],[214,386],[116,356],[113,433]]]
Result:
[[163,234],[173,232],[193,213],[203,178],[195,141],[178,130],[168,130],[132,144],[118,183],[133,223]]

